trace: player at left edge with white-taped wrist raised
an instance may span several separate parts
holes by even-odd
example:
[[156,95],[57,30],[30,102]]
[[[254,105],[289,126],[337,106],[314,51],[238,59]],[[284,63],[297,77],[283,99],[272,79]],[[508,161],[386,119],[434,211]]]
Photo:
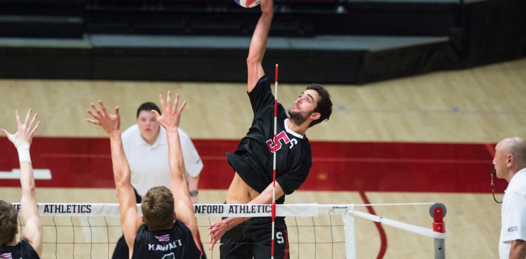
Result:
[[16,133],[10,134],[4,129],[1,132],[11,140],[18,150],[22,187],[20,204],[25,227],[22,230],[20,242],[16,243],[18,210],[12,204],[0,200],[0,258],[34,259],[42,256],[42,223],[40,223],[40,214],[36,204],[35,179],[29,156],[29,146],[40,121],[36,121],[38,114],[35,114],[33,119],[29,121],[31,109],[27,111],[23,122],[20,121],[18,110],[15,114],[18,125]]

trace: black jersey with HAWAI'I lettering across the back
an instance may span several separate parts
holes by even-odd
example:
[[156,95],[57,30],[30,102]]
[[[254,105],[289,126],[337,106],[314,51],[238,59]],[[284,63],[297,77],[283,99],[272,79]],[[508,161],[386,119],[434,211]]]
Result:
[[142,225],[135,237],[132,259],[201,258],[190,229],[174,221],[169,230],[150,231]]

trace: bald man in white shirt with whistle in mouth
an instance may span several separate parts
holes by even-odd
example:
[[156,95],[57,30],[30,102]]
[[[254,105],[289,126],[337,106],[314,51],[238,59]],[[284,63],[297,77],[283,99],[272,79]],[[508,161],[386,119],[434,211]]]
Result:
[[501,210],[499,256],[526,258],[526,141],[505,138],[495,147],[493,158],[497,177],[506,180]]

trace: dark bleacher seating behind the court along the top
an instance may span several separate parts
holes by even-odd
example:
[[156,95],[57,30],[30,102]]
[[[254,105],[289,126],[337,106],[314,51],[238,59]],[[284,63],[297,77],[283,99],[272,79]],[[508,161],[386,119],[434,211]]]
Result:
[[[288,66],[285,82],[360,84],[526,55],[525,0],[274,5],[266,62]],[[0,41],[57,38],[49,49],[0,45],[0,77],[242,82],[234,72],[259,15],[234,0],[0,0]]]

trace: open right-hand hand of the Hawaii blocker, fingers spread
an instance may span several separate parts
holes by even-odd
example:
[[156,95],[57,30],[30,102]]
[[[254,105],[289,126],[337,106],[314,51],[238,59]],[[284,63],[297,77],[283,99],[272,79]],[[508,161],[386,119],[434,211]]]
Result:
[[181,107],[177,108],[179,106],[179,94],[175,95],[175,100],[173,101],[173,106],[171,105],[172,101],[172,92],[168,91],[166,93],[166,103],[164,102],[164,98],[162,95],[159,95],[159,101],[161,103],[161,110],[162,115],[159,114],[156,110],[152,110],[153,114],[155,114],[155,119],[157,119],[158,123],[162,125],[166,129],[166,132],[170,132],[171,130],[177,130],[179,127],[179,123],[181,122],[181,113],[184,110],[184,107],[186,106],[186,101],[181,104]]

